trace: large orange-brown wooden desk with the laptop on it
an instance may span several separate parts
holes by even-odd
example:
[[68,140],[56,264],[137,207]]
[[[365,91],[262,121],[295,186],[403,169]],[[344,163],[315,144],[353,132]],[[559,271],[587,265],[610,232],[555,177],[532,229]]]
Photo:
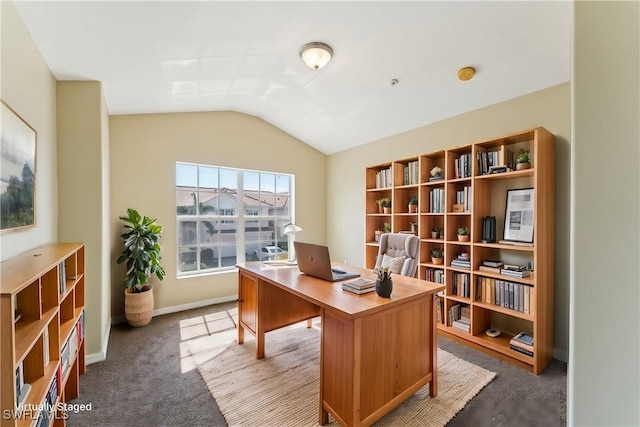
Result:
[[322,316],[321,425],[328,413],[343,426],[370,425],[427,383],[436,396],[435,294],[444,286],[394,275],[387,299],[343,291],[340,282],[297,267],[247,262],[238,269],[238,344],[245,330],[255,335],[256,358],[264,357],[266,332]]

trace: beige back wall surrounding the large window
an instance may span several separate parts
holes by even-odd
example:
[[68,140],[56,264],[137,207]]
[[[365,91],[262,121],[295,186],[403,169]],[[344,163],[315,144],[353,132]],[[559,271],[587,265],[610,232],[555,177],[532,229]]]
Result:
[[[253,116],[233,112],[111,116],[112,313],[124,306],[124,268],[118,219],[127,208],[155,217],[162,236],[164,281],[156,310],[235,298],[236,273],[176,279],[175,162],[291,173],[296,182],[296,239],[326,239],[326,156]],[[115,319],[114,319],[115,320]]]

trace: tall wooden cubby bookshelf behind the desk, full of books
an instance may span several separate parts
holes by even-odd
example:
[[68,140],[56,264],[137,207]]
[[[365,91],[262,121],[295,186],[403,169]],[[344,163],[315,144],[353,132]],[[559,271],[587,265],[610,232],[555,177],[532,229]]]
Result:
[[[515,170],[515,164],[510,159],[521,150],[529,152],[531,167]],[[496,166],[509,162],[514,168],[502,173],[486,173],[479,163],[486,152],[495,153],[494,158],[498,159]],[[408,184],[403,171],[409,162],[415,160],[418,162],[419,182]],[[435,166],[443,170],[443,178],[429,180],[430,171]],[[391,169],[393,181],[385,187],[378,187],[376,175],[388,168]],[[466,174],[462,173],[463,170],[466,170]],[[524,188],[533,189],[533,243],[499,243],[504,240],[507,190]],[[390,223],[393,232],[414,230],[420,237],[418,278],[427,280],[427,277],[440,277],[445,284],[445,292],[439,297],[439,332],[535,374],[540,373],[553,352],[555,136],[539,127],[370,166],[366,168],[365,191],[366,267],[373,268],[375,265],[378,253],[375,231],[384,222]],[[458,192],[468,194],[467,203],[457,203]],[[405,206],[408,197],[413,194],[418,196],[417,214],[409,213]],[[376,200],[381,197],[391,199],[391,213],[378,213]],[[434,201],[440,203],[434,204]],[[482,242],[483,218],[487,216],[496,217],[496,242]],[[412,223],[416,223],[416,226],[412,226]],[[431,233],[434,227],[442,230],[441,235],[435,238]],[[460,227],[469,228],[468,242],[458,241],[456,232]],[[443,249],[443,264],[432,263],[430,253],[433,248]],[[451,265],[460,253],[469,253],[470,269]],[[480,270],[483,261],[488,259],[499,259],[509,264],[529,264],[533,272],[528,277],[516,278]],[[459,283],[460,277],[464,276],[468,283],[466,294],[457,292],[454,286],[454,282]],[[527,306],[529,312],[495,304],[496,283],[505,282],[533,295]],[[449,310],[457,304],[469,307],[469,332],[451,326]],[[495,338],[489,337],[487,329],[500,330],[501,334]],[[533,335],[533,356],[510,348],[510,340],[518,332]]]

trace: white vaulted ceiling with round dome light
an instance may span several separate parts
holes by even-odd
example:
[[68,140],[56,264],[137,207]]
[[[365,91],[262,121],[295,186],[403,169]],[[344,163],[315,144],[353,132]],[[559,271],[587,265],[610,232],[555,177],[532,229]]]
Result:
[[[570,1],[16,6],[56,79],[103,82],[112,115],[234,110],[326,154],[570,78]],[[335,52],[318,71],[311,41]]]

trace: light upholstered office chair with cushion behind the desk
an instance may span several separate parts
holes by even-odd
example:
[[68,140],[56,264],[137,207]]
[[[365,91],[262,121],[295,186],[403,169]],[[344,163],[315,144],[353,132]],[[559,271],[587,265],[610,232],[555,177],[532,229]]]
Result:
[[420,239],[413,234],[385,233],[380,236],[376,266],[392,273],[415,277],[420,258]]

